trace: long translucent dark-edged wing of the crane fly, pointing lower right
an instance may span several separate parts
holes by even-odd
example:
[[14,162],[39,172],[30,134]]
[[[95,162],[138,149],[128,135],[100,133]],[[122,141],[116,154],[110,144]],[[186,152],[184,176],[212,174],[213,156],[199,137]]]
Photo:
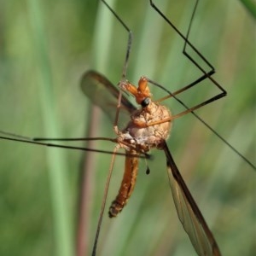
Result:
[[196,253],[200,256],[220,256],[218,244],[184,183],[183,177],[178,171],[166,143],[164,151],[166,153],[167,171],[177,215],[183,224],[184,230],[188,233]]

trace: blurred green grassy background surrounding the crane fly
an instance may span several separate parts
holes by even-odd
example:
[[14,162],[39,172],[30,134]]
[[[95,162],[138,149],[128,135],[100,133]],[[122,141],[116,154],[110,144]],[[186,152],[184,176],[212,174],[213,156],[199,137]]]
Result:
[[[156,1],[186,32],[191,1]],[[127,78],[141,75],[177,90],[199,77],[183,41],[148,1],[108,1],[134,32]],[[190,41],[216,67],[228,96],[197,113],[255,164],[255,24],[240,1],[201,1]],[[91,106],[79,88],[94,68],[119,82],[127,33],[97,1],[1,1],[0,130],[29,137],[92,136]],[[152,89],[154,98],[164,96]],[[189,90],[190,106],[216,93]],[[173,113],[181,108],[165,102]],[[95,113],[95,112],[93,112]],[[96,113],[94,136],[114,137]],[[66,143],[67,144],[67,143]],[[74,143],[83,145],[83,143]],[[169,147],[223,255],[254,255],[255,172],[192,115],[177,119]],[[111,143],[95,148],[113,150]],[[84,153],[0,141],[0,255],[73,255]],[[110,155],[90,154],[86,239],[90,255]],[[89,160],[87,160],[89,161]],[[141,161],[137,187],[116,219],[103,218],[98,255],[195,255],[177,219],[162,152]],[[124,158],[113,170],[107,207],[119,189]],[[87,215],[86,215],[87,216]]]

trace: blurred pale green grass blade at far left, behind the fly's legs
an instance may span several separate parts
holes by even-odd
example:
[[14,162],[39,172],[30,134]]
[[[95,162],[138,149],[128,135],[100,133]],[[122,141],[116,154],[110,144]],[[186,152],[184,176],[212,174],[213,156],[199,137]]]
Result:
[[[44,131],[47,137],[59,137],[54,84],[47,52],[47,35],[44,30],[44,10],[40,1],[28,1],[29,15],[35,42],[38,64],[38,92],[41,99]],[[73,255],[73,232],[67,203],[67,168],[65,153],[58,148],[47,149],[49,184],[52,197],[56,255]]]

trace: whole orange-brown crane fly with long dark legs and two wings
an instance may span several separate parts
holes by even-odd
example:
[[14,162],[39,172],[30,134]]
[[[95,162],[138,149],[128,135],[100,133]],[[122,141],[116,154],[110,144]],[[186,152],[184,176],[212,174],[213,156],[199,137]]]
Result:
[[[123,20],[120,20],[119,16],[117,16],[113,12],[113,9],[111,9],[105,1],[101,2],[108,7],[108,9],[113,13],[117,20],[119,20],[119,22],[127,30],[127,26],[125,26]],[[168,20],[166,16],[160,12],[160,10],[154,5],[154,3],[150,3],[153,6],[154,11],[156,11],[156,13],[158,13],[160,17],[163,18],[163,21],[166,20],[166,22],[169,23],[170,20]],[[130,30],[128,29],[127,31],[129,32]],[[183,36],[182,34],[184,45],[190,44],[188,34],[185,36]],[[128,47],[127,55],[129,55],[129,53],[130,48]],[[220,253],[217,242],[212,236],[211,230],[209,230],[206,221],[204,220],[200,210],[195,204],[192,195],[189,192],[189,189],[184,183],[183,177],[180,175],[180,172],[178,171],[177,166],[172,158],[172,154],[166,144],[166,139],[168,137],[168,134],[170,132],[169,130],[172,125],[172,119],[176,119],[180,115],[184,115],[186,113],[194,111],[196,108],[201,108],[205,103],[202,105],[200,104],[200,106],[198,107],[195,106],[195,108],[189,108],[187,110],[184,110],[184,112],[180,115],[172,115],[169,111],[169,108],[164,107],[168,98],[175,99],[177,94],[182,93],[183,90],[189,89],[190,87],[194,86],[194,84],[199,84],[203,79],[211,80],[212,73],[214,73],[214,71],[210,73],[202,72],[202,76],[200,79],[198,79],[194,83],[189,84],[189,86],[186,87],[187,89],[183,88],[183,90],[177,90],[175,93],[171,93],[169,91],[170,88],[161,87],[160,84],[157,84],[148,78],[141,79],[137,89],[137,86],[126,81],[126,69],[129,62],[128,59],[129,56],[127,57],[127,59],[125,59],[124,71],[122,73],[122,79],[120,80],[119,87],[121,88],[121,90],[125,90],[137,99],[138,105],[141,106],[140,109],[138,110],[137,107],[134,107],[125,96],[120,97],[119,90],[113,87],[113,85],[108,81],[108,79],[102,76],[102,74],[90,71],[88,73],[85,73],[82,79],[82,89],[84,90],[85,95],[89,96],[91,102],[98,105],[100,108],[102,108],[102,110],[105,113],[108,114],[109,118],[113,121],[114,130],[117,135],[117,137],[115,138],[105,138],[108,141],[116,143],[114,153],[111,150],[108,150],[106,152],[102,149],[96,149],[95,151],[113,154],[110,167],[112,171],[113,160],[115,158],[115,155],[123,154],[118,152],[118,149],[125,149],[125,154],[123,154],[125,155],[124,178],[119,189],[119,194],[117,195],[116,199],[113,200],[113,203],[109,208],[108,214],[110,217],[115,217],[116,215],[119,214],[119,212],[123,210],[123,208],[127,204],[129,197],[131,196],[132,189],[134,188],[135,179],[137,175],[138,161],[141,158],[148,158],[148,150],[150,148],[159,148],[166,155],[166,167],[172,189],[173,200],[177,208],[178,218],[180,218],[184,230],[186,230],[186,232],[188,233],[190,241],[195,247],[195,251],[199,255],[219,255]],[[166,90],[166,98],[161,98],[159,100],[158,98],[155,98],[155,96],[151,96],[147,84],[148,82],[153,84],[153,86],[159,86],[163,90]],[[100,90],[96,91],[96,89]],[[141,93],[142,91],[143,93]],[[222,92],[224,93],[224,91]],[[214,100],[217,99],[218,96],[214,98]],[[166,101],[164,102],[164,100]],[[115,108],[117,101],[119,101],[120,107],[117,113],[115,113],[111,110],[111,108]],[[212,100],[210,102],[212,102]],[[152,108],[154,110],[154,113],[152,113]],[[130,121],[128,121],[128,125],[126,125],[124,129],[119,129],[119,124],[124,124],[125,120],[127,120],[127,118],[129,119],[129,115],[131,115],[131,119]],[[162,120],[163,118],[164,120]],[[20,137],[4,131],[1,131],[1,134],[3,135],[1,136],[1,139],[11,139],[14,141],[21,141],[24,143],[36,143],[39,145],[46,145],[50,147],[73,148],[85,151],[93,151],[93,148],[71,146],[66,147],[63,145],[58,145],[57,143],[44,143],[44,139]],[[94,140],[96,138],[87,139]],[[98,137],[98,139],[103,138]],[[103,201],[103,205],[105,204],[105,201],[106,198]],[[96,253],[96,245],[99,237],[100,226],[102,223],[102,215],[103,212],[101,212],[100,221],[96,231],[94,253]],[[116,235],[119,236],[119,234]],[[99,241],[102,241],[102,237]]]

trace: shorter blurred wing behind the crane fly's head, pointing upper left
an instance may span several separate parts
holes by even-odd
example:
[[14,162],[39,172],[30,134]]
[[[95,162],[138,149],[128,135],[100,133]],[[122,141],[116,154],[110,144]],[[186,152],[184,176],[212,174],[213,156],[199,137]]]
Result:
[[[102,108],[103,112],[114,122],[119,90],[102,74],[91,70],[84,73],[81,79],[81,88],[85,96],[96,106]],[[125,96],[122,96],[119,124],[126,124],[130,114],[136,109]]]

